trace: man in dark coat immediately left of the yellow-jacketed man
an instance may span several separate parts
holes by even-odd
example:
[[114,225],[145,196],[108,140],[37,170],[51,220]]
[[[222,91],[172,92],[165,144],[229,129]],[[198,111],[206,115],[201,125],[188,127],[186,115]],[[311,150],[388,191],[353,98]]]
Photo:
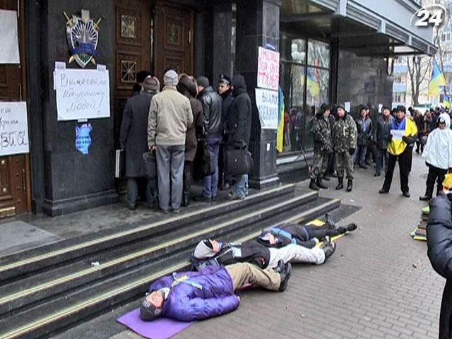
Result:
[[391,110],[389,107],[383,107],[383,112],[376,119],[374,141],[376,143],[376,167],[374,177],[381,175],[380,171],[383,167],[384,159],[384,174],[388,172],[388,143],[391,136]]

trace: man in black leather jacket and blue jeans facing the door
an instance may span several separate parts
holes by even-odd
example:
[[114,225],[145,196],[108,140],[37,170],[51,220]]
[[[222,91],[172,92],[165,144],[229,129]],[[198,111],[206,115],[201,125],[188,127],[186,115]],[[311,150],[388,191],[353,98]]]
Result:
[[196,79],[198,83],[198,99],[204,110],[203,134],[207,149],[215,157],[215,173],[204,177],[203,195],[194,198],[196,201],[210,202],[217,200],[218,191],[218,152],[222,133],[222,98],[213,90],[208,78],[200,76]]

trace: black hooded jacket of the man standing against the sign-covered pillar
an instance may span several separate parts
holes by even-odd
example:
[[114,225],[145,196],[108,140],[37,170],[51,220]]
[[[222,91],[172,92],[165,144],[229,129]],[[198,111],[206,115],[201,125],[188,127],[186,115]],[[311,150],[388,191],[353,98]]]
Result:
[[234,101],[230,107],[227,129],[229,131],[229,144],[234,145],[240,142],[249,145],[251,134],[251,99],[246,92],[245,78],[237,74],[232,78],[232,96]]

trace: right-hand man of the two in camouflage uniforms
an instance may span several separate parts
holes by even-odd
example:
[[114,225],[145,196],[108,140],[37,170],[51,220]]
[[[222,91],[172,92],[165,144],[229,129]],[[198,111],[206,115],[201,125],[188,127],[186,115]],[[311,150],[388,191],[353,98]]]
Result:
[[357,128],[352,116],[345,112],[343,105],[338,105],[338,118],[333,126],[333,143],[336,155],[336,171],[338,172],[338,186],[344,187],[344,167],[347,172],[347,192],[353,187],[353,153],[357,145]]

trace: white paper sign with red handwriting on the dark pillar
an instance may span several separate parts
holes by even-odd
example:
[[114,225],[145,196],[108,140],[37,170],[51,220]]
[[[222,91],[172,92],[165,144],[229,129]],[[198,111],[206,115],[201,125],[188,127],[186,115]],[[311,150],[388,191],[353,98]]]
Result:
[[278,90],[280,85],[280,54],[259,47],[257,61],[257,87]]

